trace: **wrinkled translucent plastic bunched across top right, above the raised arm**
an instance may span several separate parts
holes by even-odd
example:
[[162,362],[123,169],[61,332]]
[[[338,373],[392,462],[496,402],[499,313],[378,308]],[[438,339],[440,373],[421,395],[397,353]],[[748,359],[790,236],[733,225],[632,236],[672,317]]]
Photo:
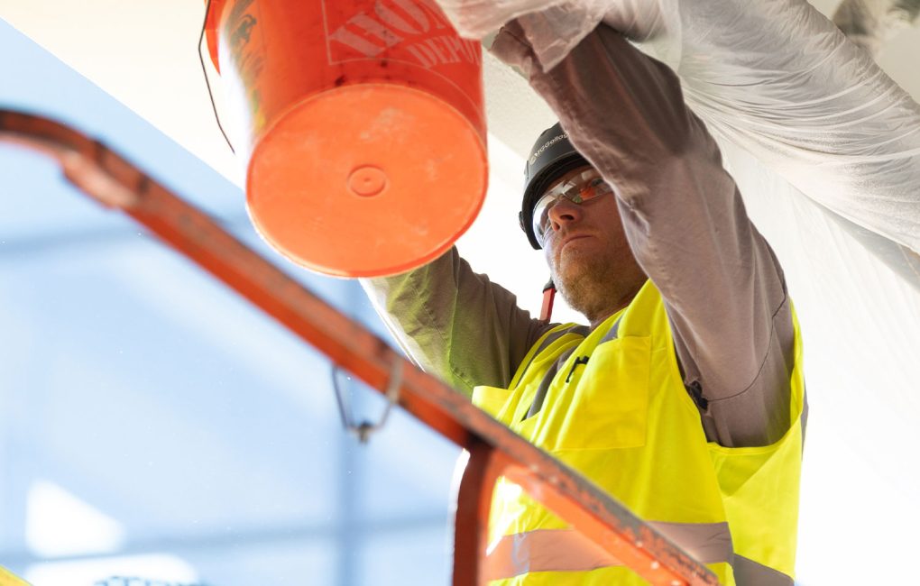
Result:
[[920,251],[920,105],[808,3],[441,4],[477,38],[511,17],[532,20],[545,67],[603,19],[677,71],[710,130],[828,209]]

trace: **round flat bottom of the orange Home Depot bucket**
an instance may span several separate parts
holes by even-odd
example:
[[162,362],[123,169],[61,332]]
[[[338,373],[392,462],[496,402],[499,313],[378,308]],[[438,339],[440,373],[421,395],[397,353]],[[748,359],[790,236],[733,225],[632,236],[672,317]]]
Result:
[[372,277],[441,256],[487,184],[485,144],[456,109],[412,87],[361,84],[305,99],[262,136],[247,204],[288,259]]

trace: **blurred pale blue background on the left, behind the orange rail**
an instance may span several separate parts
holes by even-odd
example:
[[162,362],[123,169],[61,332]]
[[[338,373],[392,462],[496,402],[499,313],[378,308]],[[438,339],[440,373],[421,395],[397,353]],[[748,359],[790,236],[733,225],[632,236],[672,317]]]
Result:
[[[98,136],[279,262],[236,185],[5,22],[0,54],[6,107]],[[448,583],[453,445],[397,411],[361,445],[315,350],[49,159],[0,144],[0,178],[0,564],[37,586]],[[283,269],[385,335],[357,282]]]

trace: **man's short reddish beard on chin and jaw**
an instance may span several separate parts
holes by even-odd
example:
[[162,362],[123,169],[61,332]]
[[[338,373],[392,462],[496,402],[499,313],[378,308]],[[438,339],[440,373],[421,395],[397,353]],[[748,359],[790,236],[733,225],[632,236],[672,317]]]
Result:
[[616,267],[603,255],[567,259],[552,270],[553,283],[566,303],[594,323],[620,300],[623,284]]

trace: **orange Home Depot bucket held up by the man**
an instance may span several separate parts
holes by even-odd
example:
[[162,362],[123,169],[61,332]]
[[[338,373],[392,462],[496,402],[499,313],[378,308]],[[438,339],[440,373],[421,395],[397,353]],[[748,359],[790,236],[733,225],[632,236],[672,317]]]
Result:
[[482,53],[433,0],[212,0],[247,208],[288,259],[369,277],[435,259],[488,183]]

